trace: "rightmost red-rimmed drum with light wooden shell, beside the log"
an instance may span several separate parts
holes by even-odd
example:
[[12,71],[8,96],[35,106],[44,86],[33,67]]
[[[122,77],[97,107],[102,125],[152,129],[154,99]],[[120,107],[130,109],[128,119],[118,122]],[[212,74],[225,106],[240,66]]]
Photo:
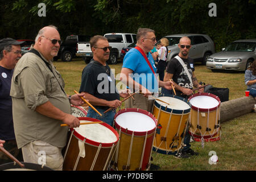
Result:
[[192,106],[189,134],[195,138],[212,138],[220,131],[220,98],[211,93],[189,97]]

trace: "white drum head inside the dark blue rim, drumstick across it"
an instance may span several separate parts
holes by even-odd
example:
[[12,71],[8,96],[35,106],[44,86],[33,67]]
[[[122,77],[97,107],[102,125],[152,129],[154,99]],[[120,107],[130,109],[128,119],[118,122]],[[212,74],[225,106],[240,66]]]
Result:
[[169,108],[169,109],[175,109],[175,110],[187,110],[190,109],[190,106],[187,104],[187,102],[184,102],[182,100],[179,100],[178,98],[174,97],[158,97],[159,100],[162,100],[164,102],[167,102],[168,104],[165,104],[164,102],[155,100],[155,102],[158,102],[158,104]]

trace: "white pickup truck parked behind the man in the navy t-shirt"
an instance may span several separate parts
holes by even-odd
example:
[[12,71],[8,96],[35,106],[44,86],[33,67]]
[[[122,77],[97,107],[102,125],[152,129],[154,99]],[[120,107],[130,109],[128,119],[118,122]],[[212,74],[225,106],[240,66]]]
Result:
[[[110,51],[108,64],[117,64],[117,59],[121,56],[123,47],[129,46],[131,43],[136,42],[136,34],[129,33],[110,33],[104,35],[108,41],[109,46],[112,47]],[[90,49],[90,43],[78,43],[76,56],[84,57],[85,63],[88,64],[93,57]]]

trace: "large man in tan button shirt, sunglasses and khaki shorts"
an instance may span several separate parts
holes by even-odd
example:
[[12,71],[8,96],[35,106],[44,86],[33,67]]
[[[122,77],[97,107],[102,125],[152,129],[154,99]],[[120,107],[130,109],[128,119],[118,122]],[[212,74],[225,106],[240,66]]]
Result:
[[54,26],[43,27],[34,48],[22,56],[14,69],[10,95],[13,100],[14,131],[24,162],[45,164],[61,170],[61,150],[68,127],[79,127],[71,115],[71,104],[84,104],[80,96],[67,96],[64,81],[52,64],[60,48],[60,34]]

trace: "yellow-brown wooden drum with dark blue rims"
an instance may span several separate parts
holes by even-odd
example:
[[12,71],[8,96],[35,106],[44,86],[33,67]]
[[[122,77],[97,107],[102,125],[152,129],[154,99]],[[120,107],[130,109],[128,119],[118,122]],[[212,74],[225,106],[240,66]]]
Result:
[[153,150],[170,155],[180,150],[188,126],[191,105],[185,98],[178,96],[158,97],[155,100],[152,114],[158,119]]

